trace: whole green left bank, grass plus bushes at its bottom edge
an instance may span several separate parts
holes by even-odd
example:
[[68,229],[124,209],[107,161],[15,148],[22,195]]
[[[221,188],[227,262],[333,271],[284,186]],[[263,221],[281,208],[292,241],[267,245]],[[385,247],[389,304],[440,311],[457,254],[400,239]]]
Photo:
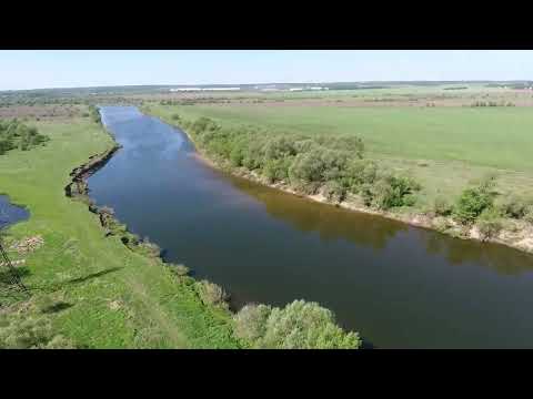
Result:
[[[125,246],[122,239],[133,238],[128,232],[105,234],[88,204],[64,191],[74,167],[114,145],[95,109],[89,111],[84,117],[24,117],[24,129],[34,127],[49,140],[28,151],[11,146],[0,155],[0,193],[30,211],[28,221],[1,232],[30,296],[13,289],[0,268],[0,348],[362,345],[356,332],[342,330],[333,313],[316,303],[254,304],[233,314],[223,288],[197,282],[183,265],[163,264],[159,250]],[[19,137],[11,127],[8,133],[9,140]],[[21,252],[28,238],[42,245]]]

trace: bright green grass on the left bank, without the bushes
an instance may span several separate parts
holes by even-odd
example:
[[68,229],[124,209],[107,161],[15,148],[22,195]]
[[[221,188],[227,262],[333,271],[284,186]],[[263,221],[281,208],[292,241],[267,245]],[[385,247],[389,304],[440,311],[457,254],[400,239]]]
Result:
[[70,171],[111,145],[103,130],[87,119],[38,127],[51,142],[0,156],[0,193],[31,212],[10,235],[46,242],[27,257],[24,283],[72,305],[53,315],[57,329],[98,348],[237,347],[229,313],[202,305],[159,262],[104,238],[87,205],[64,196]]

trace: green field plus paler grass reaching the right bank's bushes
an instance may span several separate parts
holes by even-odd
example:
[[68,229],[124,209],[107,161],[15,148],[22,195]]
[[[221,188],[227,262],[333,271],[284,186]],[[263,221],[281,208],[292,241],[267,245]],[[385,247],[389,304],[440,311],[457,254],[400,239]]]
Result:
[[502,193],[533,194],[533,111],[530,108],[346,108],[264,104],[161,106],[150,112],[200,115],[224,125],[260,124],[308,134],[356,134],[368,156],[412,174],[424,186],[420,206],[455,196],[489,172]]

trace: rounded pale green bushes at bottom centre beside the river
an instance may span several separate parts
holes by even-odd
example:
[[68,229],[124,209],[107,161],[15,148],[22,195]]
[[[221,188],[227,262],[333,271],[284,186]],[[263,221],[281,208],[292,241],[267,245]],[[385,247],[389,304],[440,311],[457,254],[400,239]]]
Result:
[[235,317],[235,335],[264,349],[358,349],[361,339],[335,324],[316,303],[294,300],[284,308],[248,305]]

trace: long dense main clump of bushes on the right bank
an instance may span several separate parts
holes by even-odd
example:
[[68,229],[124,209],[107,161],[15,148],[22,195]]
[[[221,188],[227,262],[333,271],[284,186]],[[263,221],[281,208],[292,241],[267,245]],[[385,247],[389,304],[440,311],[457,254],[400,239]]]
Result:
[[388,209],[413,205],[413,194],[420,190],[412,178],[392,175],[375,162],[363,160],[363,142],[353,135],[282,135],[251,126],[223,129],[204,116],[187,125],[204,150],[232,166],[257,171],[270,183],[290,182],[304,194],[315,194],[322,187],[332,202],[341,202],[348,192],[353,192],[361,194],[368,205]]

